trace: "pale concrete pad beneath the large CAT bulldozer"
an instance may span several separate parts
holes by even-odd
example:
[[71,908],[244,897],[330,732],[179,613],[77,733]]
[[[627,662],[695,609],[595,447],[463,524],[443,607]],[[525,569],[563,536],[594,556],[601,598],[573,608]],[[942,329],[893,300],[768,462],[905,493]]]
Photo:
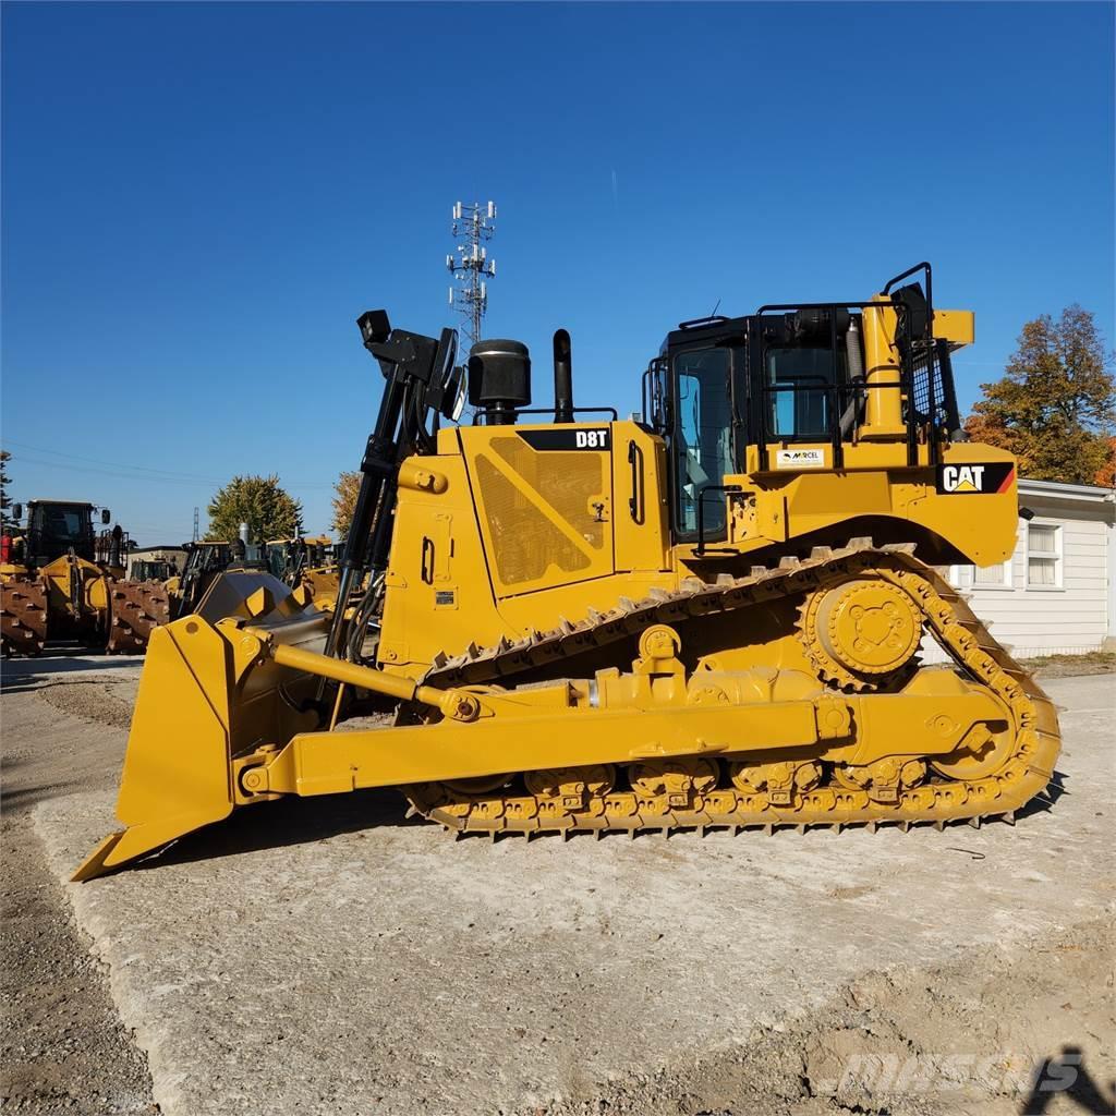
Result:
[[[365,792],[239,811],[69,894],[166,1116],[589,1100],[731,1056],[867,972],[1026,962],[1110,910],[1113,683],[1050,691],[1064,789],[1016,827],[493,845]],[[60,875],[112,806],[37,807]]]

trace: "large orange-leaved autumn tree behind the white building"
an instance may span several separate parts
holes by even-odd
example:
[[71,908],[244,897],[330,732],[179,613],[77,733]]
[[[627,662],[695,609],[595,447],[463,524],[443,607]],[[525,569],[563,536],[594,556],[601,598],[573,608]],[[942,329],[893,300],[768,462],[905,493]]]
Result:
[[1112,453],[1116,381],[1089,310],[1028,321],[1002,379],[965,423],[978,442],[1010,450],[1035,480],[1094,484]]

